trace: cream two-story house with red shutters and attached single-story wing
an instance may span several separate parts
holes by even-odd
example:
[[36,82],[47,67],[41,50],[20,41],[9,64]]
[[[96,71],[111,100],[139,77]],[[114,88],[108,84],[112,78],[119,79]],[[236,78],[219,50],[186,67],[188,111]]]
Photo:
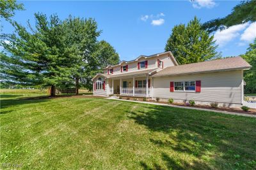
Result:
[[108,66],[93,77],[93,95],[146,97],[196,104],[243,104],[243,70],[250,69],[241,57],[180,65],[172,52],[140,55],[131,61]]

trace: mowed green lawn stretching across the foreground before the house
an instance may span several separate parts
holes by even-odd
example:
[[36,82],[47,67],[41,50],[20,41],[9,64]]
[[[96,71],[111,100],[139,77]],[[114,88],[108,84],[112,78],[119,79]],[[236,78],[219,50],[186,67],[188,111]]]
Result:
[[35,94],[1,95],[0,166],[256,168],[255,118],[90,96],[22,99]]

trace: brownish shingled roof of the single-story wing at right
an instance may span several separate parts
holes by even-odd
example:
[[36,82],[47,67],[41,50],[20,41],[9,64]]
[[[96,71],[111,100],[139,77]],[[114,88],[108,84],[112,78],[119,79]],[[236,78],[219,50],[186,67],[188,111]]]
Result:
[[166,67],[152,76],[207,73],[215,71],[249,69],[250,67],[252,66],[250,66],[250,64],[248,64],[248,62],[246,62],[242,57],[230,57],[227,59],[210,60],[205,62],[196,62],[193,64]]

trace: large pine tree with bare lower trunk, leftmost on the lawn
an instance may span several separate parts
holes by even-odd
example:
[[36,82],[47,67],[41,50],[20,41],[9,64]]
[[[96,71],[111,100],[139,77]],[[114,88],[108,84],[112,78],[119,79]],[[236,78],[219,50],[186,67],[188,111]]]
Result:
[[72,74],[74,57],[65,45],[65,31],[60,19],[52,15],[35,14],[35,29],[13,22],[15,33],[3,35],[1,45],[2,81],[22,85],[51,87],[55,96],[56,85],[67,83]]

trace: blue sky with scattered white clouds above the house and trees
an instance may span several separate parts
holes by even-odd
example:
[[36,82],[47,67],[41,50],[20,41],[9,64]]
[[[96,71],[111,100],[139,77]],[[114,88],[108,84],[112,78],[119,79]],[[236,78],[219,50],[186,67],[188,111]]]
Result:
[[[172,28],[186,24],[193,17],[201,22],[225,17],[239,1],[19,1],[26,10],[17,11],[14,20],[26,25],[35,23],[33,13],[47,16],[56,13],[61,19],[68,15],[92,17],[102,30],[99,40],[114,46],[121,60],[132,60],[139,55],[164,51]],[[3,32],[13,31],[12,25],[2,20]],[[223,57],[246,52],[248,44],[256,37],[256,24],[244,24],[217,31],[215,39],[218,52]]]

